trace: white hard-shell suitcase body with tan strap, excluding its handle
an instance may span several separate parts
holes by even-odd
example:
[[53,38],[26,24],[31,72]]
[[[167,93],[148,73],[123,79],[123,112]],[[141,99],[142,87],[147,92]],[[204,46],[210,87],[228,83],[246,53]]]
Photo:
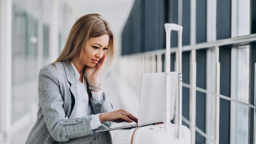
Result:
[[190,131],[182,125],[182,137],[177,138],[177,124],[170,125],[165,133],[165,124],[150,125],[139,128],[124,129],[116,132],[114,144],[190,144]]

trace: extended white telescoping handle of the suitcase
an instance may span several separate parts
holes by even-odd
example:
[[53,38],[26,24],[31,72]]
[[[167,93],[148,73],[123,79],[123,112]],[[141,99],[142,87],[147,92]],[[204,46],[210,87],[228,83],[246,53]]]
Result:
[[166,33],[166,54],[165,54],[165,69],[166,69],[166,98],[165,98],[165,132],[169,132],[170,128],[170,95],[171,95],[171,82],[170,82],[170,54],[171,54],[171,31],[178,31],[179,37],[179,70],[178,70],[178,138],[181,138],[181,122],[182,122],[182,74],[181,74],[181,45],[182,45],[182,26],[174,23],[164,24]]

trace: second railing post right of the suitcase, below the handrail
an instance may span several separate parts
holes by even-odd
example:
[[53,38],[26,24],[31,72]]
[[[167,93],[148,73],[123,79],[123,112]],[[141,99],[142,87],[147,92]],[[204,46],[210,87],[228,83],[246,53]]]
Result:
[[219,62],[219,47],[215,46],[215,144],[219,144],[220,132],[220,62]]

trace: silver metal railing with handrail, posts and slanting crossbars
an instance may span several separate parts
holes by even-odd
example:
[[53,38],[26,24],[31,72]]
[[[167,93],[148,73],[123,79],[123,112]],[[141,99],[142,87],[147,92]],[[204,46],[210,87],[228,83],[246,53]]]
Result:
[[[189,125],[189,129],[191,131],[191,142],[195,143],[195,135],[196,132],[201,134],[204,138],[212,141],[215,144],[219,144],[219,123],[220,123],[220,99],[225,99],[228,101],[233,101],[235,103],[242,104],[248,108],[254,109],[254,143],[255,143],[255,137],[256,137],[256,63],[255,63],[255,90],[254,90],[254,105],[250,103],[246,103],[240,100],[232,99],[229,96],[225,96],[220,94],[220,62],[219,62],[219,49],[220,46],[224,45],[230,45],[230,46],[241,46],[241,45],[249,45],[250,42],[256,41],[256,34],[251,34],[247,36],[240,36],[235,38],[228,38],[228,39],[222,39],[217,40],[214,42],[207,42],[207,43],[200,43],[195,45],[186,45],[182,47],[182,52],[191,51],[190,52],[190,84],[183,83],[182,86],[186,87],[190,90],[189,92],[189,119],[186,119],[185,117],[182,117],[183,122],[187,123]],[[196,87],[196,50],[199,49],[209,49],[214,48],[215,49],[215,90],[209,91],[200,87]],[[174,47],[171,48],[171,54],[177,55],[178,48]],[[131,73],[125,73],[123,76],[127,77],[127,82],[131,84],[131,86],[139,92],[140,87],[140,76],[142,73],[149,73],[149,72],[162,72],[164,68],[162,68],[162,55],[165,55],[165,49],[161,50],[155,50],[150,52],[143,52],[143,53],[135,53],[130,55],[124,55],[120,58],[120,60],[128,61],[126,62],[126,68],[123,69],[122,72],[125,73],[125,71],[133,71]],[[178,58],[176,56],[175,60],[175,71],[178,69]],[[135,68],[134,68],[135,67]],[[203,92],[208,95],[215,96],[215,104],[214,104],[214,111],[215,111],[215,117],[214,117],[214,138],[212,138],[211,135],[208,135],[207,133],[203,132],[201,129],[196,127],[196,91]],[[177,92],[176,92],[177,93]],[[176,99],[177,100],[177,99]],[[176,101],[177,103],[177,101]],[[177,109],[177,105],[175,106],[175,109]],[[176,123],[177,115],[176,112],[174,114],[174,123]],[[194,142],[193,142],[194,141]]]

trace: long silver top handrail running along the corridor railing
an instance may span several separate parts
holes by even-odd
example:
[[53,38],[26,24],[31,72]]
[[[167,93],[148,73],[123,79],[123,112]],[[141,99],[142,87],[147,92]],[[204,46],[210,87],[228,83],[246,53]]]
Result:
[[[229,44],[239,44],[239,43],[247,43],[256,41],[256,34],[246,35],[246,36],[238,36],[233,38],[221,39],[213,42],[199,43],[195,45],[184,45],[182,46],[182,52],[191,51],[191,50],[199,50],[204,48],[210,48],[215,46],[224,46]],[[171,53],[178,51],[178,47],[172,47]],[[164,54],[165,49],[154,50],[150,52],[141,52],[134,54],[123,55],[122,57],[130,57],[130,56],[138,56],[138,55],[155,55],[155,54]]]

